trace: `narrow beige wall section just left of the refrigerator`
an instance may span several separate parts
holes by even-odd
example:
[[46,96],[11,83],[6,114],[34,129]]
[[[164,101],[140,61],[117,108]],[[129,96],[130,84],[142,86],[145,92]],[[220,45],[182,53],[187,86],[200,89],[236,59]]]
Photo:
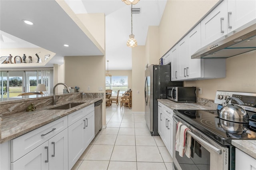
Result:
[[132,48],[132,112],[144,112],[145,46]]

